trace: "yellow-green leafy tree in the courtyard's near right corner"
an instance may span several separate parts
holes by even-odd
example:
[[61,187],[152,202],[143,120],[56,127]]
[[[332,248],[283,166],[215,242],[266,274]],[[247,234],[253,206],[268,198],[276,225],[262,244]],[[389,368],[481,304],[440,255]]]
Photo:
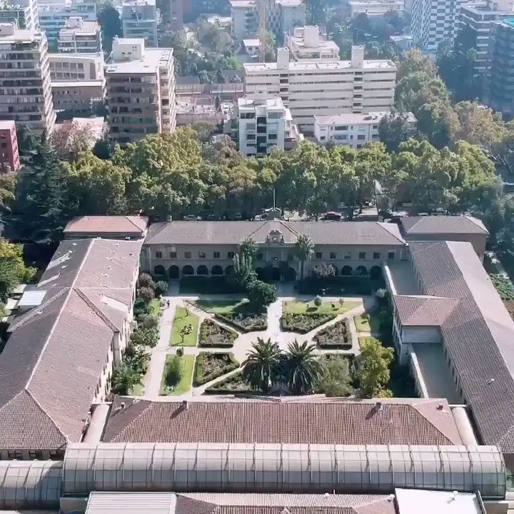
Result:
[[384,348],[375,338],[367,338],[358,356],[356,378],[363,398],[383,395],[390,379],[390,366],[394,360],[393,348]]

